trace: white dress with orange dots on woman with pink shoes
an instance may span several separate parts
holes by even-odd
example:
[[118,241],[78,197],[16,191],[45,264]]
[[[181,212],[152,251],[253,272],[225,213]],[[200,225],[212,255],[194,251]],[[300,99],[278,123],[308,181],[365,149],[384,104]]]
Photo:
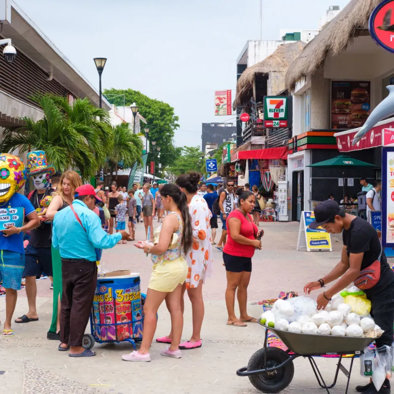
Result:
[[211,276],[212,271],[212,245],[211,245],[211,211],[203,197],[193,196],[189,204],[189,213],[192,219],[193,247],[186,255],[188,275],[186,289],[198,286],[199,281],[205,283],[205,277]]

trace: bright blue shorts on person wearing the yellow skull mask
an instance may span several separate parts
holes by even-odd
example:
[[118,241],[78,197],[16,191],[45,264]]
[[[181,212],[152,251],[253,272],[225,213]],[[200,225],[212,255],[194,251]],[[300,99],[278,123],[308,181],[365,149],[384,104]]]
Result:
[[25,268],[25,255],[2,250],[0,252],[0,282],[6,289],[21,290],[22,273]]

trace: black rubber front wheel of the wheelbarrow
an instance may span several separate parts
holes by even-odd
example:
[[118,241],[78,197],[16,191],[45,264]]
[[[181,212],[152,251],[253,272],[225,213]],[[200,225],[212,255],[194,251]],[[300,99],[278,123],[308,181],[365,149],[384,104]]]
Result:
[[[264,349],[258,350],[249,360],[248,371],[264,368]],[[272,368],[289,358],[289,355],[279,348],[267,348],[266,368]],[[249,380],[256,389],[263,393],[279,393],[289,386],[294,376],[294,364],[290,361],[275,371],[250,375]]]

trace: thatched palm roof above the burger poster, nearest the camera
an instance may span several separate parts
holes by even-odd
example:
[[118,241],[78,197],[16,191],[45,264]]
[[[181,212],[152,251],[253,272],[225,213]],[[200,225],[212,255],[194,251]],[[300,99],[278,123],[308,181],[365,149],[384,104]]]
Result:
[[298,81],[320,71],[328,54],[344,51],[358,35],[367,29],[373,9],[382,0],[352,0],[304,48],[286,73],[286,88],[294,91]]

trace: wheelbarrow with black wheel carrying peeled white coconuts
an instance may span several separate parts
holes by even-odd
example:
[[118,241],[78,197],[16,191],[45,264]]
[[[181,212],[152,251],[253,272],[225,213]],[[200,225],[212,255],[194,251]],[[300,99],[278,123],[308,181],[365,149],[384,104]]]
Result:
[[[252,385],[263,393],[279,393],[289,386],[294,376],[293,361],[298,357],[304,357],[309,360],[319,386],[326,389],[328,394],[329,389],[336,384],[339,371],[342,371],[347,377],[345,391],[347,394],[354,359],[376,339],[299,334],[270,328],[263,324],[262,326],[265,328],[263,349],[258,350],[250,358],[248,366],[238,369],[236,373],[238,376],[248,376]],[[288,351],[267,346],[268,330],[282,340]],[[334,381],[330,385],[326,384],[314,360],[314,357],[318,356],[337,357]],[[342,364],[343,356],[348,356],[347,358],[350,359],[349,370]]]

